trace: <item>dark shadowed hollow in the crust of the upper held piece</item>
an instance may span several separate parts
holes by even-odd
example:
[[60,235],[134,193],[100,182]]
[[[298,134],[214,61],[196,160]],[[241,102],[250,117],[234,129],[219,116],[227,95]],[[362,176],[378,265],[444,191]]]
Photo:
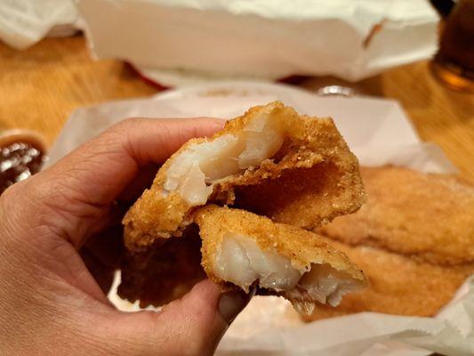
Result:
[[235,206],[287,223],[314,230],[334,217],[358,210],[364,201],[359,182],[340,166],[321,163],[290,169],[278,179],[235,188]]

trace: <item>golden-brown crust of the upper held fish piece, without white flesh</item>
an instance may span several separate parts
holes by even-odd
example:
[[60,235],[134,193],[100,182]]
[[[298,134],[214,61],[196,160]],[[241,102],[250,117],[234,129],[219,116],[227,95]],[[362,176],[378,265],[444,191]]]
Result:
[[[125,215],[125,245],[129,249],[140,250],[157,238],[179,236],[191,223],[191,206],[177,191],[164,193],[167,170],[173,160],[191,145],[212,142],[224,134],[242,133],[245,125],[260,117],[263,110],[270,111],[271,120],[283,123],[283,145],[271,159],[217,182],[209,201],[231,204],[237,196],[239,206],[307,229],[314,229],[336,215],[352,213],[364,203],[366,196],[358,173],[358,160],[333,120],[299,116],[294,109],[276,101],[249,109],[245,115],[230,120],[211,138],[190,140],[165,162],[152,187],[144,191]],[[311,176],[315,179],[308,178]],[[317,180],[318,177],[321,179]],[[298,188],[292,190],[295,181]],[[251,186],[254,189],[248,188]],[[285,187],[285,190],[270,194],[267,186]],[[303,190],[307,193],[303,194]],[[284,198],[275,197],[280,194]],[[311,214],[304,219],[296,218],[305,209]]]

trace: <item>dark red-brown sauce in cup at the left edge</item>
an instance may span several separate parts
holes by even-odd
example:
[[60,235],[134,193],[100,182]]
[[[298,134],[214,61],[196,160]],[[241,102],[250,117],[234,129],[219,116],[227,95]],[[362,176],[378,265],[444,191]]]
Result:
[[43,150],[31,142],[12,142],[0,147],[0,194],[39,172],[44,161]]

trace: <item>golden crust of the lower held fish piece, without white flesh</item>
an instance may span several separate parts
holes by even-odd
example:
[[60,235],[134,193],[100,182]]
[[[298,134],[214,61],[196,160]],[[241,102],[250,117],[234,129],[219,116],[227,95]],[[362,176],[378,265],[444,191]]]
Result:
[[[349,258],[340,251],[329,246],[317,234],[282,223],[273,223],[269,218],[239,209],[220,206],[205,206],[196,212],[195,221],[199,226],[199,234],[203,240],[202,266],[208,277],[224,289],[228,286],[213,271],[216,255],[226,233],[242,234],[255,239],[263,251],[276,251],[278,255],[291,260],[293,267],[303,270],[311,263],[328,264],[341,271],[345,279],[349,279],[358,287],[366,286],[366,277]],[[292,303],[317,303],[302,290],[284,291],[281,293],[267,290],[265,294],[283,295]]]

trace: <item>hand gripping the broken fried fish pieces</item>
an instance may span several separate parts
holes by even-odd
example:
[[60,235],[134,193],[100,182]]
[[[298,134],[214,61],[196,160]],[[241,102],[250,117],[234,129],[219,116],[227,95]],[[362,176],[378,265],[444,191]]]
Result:
[[127,119],[5,190],[0,197],[0,353],[213,353],[248,297],[221,296],[205,280],[162,312],[118,312],[78,250],[117,221],[116,201],[137,190],[142,167],[162,163],[183,142],[213,134],[221,125],[206,118]]

